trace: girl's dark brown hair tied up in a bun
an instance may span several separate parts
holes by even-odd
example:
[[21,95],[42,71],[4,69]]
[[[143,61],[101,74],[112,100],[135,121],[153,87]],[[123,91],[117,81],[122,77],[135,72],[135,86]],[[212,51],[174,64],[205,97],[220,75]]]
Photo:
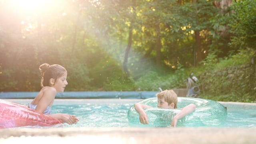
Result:
[[41,87],[50,86],[51,78],[55,80],[55,84],[56,80],[62,77],[67,72],[67,70],[63,66],[60,66],[58,64],[42,64],[41,66],[39,66],[39,71],[42,75]]

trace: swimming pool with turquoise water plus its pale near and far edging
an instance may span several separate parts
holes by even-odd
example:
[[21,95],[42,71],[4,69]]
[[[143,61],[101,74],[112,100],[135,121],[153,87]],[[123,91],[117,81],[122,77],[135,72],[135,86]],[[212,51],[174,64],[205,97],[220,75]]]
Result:
[[[7,99],[27,104],[31,99]],[[55,112],[76,114],[80,111],[80,122],[76,125],[64,125],[64,128],[8,128],[0,129],[0,143],[10,144],[45,144],[59,143],[94,143],[94,144],[255,144],[256,143],[256,104],[239,102],[220,102],[227,107],[230,120],[220,127],[190,128],[138,128],[127,127],[126,112],[140,99],[56,99]],[[70,110],[66,110],[66,108]],[[95,110],[96,112],[92,112]],[[115,111],[113,119],[100,120],[102,113]],[[92,116],[89,116],[92,113]],[[108,113],[108,112],[106,112]],[[103,122],[102,122],[103,121]],[[82,126],[82,127],[80,127]]]

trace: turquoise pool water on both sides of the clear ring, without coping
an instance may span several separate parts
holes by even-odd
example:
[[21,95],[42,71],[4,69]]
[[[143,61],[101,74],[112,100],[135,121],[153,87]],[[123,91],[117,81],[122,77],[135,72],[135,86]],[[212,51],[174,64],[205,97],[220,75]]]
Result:
[[[80,121],[74,125],[64,124],[64,128],[68,127],[146,127],[146,125],[133,125],[128,122],[127,113],[133,105],[127,103],[84,103],[84,104],[54,104],[52,106],[53,113],[66,113],[76,115]],[[256,110],[255,109],[235,109],[227,108],[226,120],[212,127],[227,128],[256,128]],[[193,127],[193,126],[188,126]],[[198,127],[198,125],[194,126]]]

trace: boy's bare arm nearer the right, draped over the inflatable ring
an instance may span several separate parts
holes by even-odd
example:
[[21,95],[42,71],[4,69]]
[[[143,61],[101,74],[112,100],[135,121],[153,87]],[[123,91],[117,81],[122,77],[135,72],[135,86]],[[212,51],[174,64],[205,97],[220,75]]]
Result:
[[194,104],[189,104],[189,105],[185,106],[184,108],[182,108],[182,110],[176,116],[174,116],[174,118],[172,119],[171,126],[176,127],[176,124],[180,118],[183,118],[187,114],[190,114],[195,109],[196,109],[196,105],[194,105]]

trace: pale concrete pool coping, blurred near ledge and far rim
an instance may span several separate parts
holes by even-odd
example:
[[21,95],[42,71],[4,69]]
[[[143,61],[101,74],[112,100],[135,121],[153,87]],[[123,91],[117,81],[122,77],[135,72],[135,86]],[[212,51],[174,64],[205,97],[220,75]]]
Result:
[[[6,99],[31,102],[31,99]],[[140,99],[56,99],[54,104],[135,103]],[[256,103],[220,102],[227,108],[256,109]],[[74,104],[74,103],[73,103]],[[254,144],[256,128],[8,128],[0,129],[0,144],[46,142],[111,144]]]

